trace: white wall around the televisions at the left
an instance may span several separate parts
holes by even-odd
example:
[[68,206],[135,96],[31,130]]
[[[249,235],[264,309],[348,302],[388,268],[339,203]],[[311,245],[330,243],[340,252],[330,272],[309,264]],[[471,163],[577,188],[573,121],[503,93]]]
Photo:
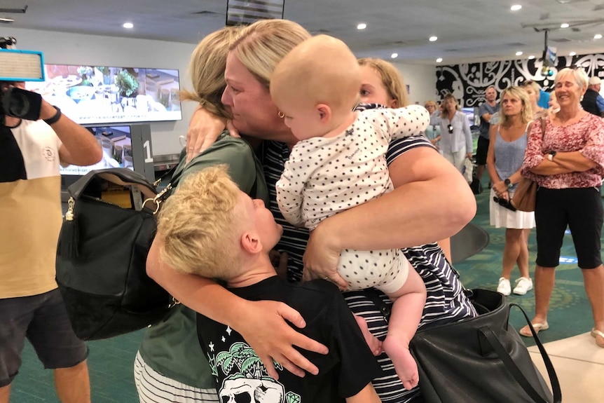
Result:
[[[181,88],[191,88],[187,67],[191,43],[149,41],[111,36],[67,34],[6,28],[2,36],[14,36],[22,50],[40,50],[48,64],[87,64],[116,67],[178,69]],[[151,123],[153,154],[179,153],[179,135],[186,135],[188,121],[195,109],[193,102],[183,102],[182,120]]]

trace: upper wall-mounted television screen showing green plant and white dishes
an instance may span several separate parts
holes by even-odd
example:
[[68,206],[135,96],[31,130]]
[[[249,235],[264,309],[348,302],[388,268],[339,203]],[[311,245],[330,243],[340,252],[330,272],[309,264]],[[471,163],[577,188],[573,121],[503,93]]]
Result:
[[25,88],[81,125],[182,119],[179,71],[44,64],[46,80]]

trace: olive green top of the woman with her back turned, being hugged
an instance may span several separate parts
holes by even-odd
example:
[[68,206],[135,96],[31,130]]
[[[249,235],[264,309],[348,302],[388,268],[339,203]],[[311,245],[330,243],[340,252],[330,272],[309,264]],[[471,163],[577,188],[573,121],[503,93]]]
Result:
[[[230,137],[228,132],[223,132],[217,142],[186,166],[181,158],[173,176],[181,175],[181,181],[192,172],[217,164],[229,166],[228,174],[245,193],[249,194],[256,182],[256,195],[250,196],[262,198],[268,205],[268,189],[260,161],[244,139]],[[193,388],[216,387],[210,365],[199,346],[195,312],[186,306],[175,306],[164,320],[149,327],[139,353],[149,367],[174,381]]]

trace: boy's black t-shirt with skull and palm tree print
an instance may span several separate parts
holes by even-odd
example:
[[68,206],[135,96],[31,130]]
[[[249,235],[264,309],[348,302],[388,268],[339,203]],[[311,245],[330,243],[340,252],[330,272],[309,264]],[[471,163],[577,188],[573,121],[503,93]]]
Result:
[[[221,402],[225,401],[223,397],[231,397],[232,400],[226,399],[228,402],[344,402],[345,397],[356,395],[380,376],[376,357],[341,292],[331,282],[293,284],[275,275],[249,287],[230,290],[250,301],[282,301],[298,310],[306,320],[306,327],[298,331],[323,343],[329,354],[301,350],[319,368],[319,374],[300,378],[275,364],[279,373],[279,380],[275,381],[240,334],[198,314],[200,345],[210,362]],[[245,400],[245,395],[251,399]],[[257,399],[259,395],[264,399]]]

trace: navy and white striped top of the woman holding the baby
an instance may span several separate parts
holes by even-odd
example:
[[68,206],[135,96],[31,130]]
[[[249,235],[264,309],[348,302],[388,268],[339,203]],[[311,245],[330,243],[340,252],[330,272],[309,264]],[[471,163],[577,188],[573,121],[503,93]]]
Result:
[[[406,137],[392,142],[387,153],[387,162],[391,163],[401,154],[418,146],[432,147],[432,144],[423,136]],[[287,158],[289,158],[289,149],[286,144],[280,142],[263,143],[262,160],[266,184],[270,193],[270,210],[273,212],[277,223],[283,226],[282,238],[275,249],[289,254],[289,280],[299,281],[302,278],[302,257],[308,242],[308,230],[306,228],[294,228],[283,218],[277,206],[275,194],[275,184],[280,178]],[[423,278],[427,289],[426,305],[420,327],[429,323],[453,322],[476,315],[472,304],[462,292],[462,285],[457,274],[448,264],[441,248],[436,243],[405,248],[403,252]],[[344,296],[352,313],[364,317],[369,330],[378,339],[385,339],[387,322],[365,292],[345,292]],[[391,303],[387,296],[384,294],[381,294],[381,296],[385,303]],[[380,355],[378,362],[383,369],[383,376],[373,380],[373,387],[378,392],[382,402],[413,402],[413,399],[419,397],[419,388],[405,390],[394,371],[394,365],[392,365],[387,355]]]

